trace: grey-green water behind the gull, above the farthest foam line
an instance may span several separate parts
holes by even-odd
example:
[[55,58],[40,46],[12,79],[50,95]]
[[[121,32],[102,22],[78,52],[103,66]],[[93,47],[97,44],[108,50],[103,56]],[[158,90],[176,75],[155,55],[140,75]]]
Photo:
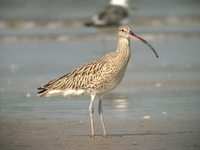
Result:
[[[65,20],[91,17],[109,0],[0,0],[0,18],[6,20]],[[138,10],[130,11],[134,18],[199,16],[199,0],[132,1]]]

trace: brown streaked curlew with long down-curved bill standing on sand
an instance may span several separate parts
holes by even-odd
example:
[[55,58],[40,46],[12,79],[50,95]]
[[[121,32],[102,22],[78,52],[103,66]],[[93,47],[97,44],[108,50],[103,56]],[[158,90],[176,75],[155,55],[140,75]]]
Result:
[[102,100],[105,93],[115,89],[124,77],[128,65],[130,51],[130,37],[138,39],[149,46],[156,57],[154,48],[144,39],[136,36],[128,26],[118,28],[117,50],[100,58],[92,60],[76,70],[67,73],[57,79],[53,79],[38,88],[38,96],[64,96],[73,98],[78,96],[90,96],[89,113],[91,120],[91,137],[95,137],[93,121],[93,102],[99,97],[98,112],[103,126],[103,136],[107,137],[103,119]]

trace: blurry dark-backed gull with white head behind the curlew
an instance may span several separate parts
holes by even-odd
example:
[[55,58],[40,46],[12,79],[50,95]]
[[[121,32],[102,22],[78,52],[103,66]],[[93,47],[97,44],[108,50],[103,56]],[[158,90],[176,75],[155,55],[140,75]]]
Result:
[[[129,0],[111,0],[110,4],[101,8],[86,26],[116,26],[128,23]],[[132,9],[137,9],[131,6]]]

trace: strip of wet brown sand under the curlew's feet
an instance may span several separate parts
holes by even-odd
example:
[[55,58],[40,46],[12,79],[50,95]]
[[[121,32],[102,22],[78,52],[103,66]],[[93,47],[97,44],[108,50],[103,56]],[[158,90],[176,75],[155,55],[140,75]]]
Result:
[[[70,120],[70,121],[69,121]],[[99,118],[95,139],[87,120],[1,120],[0,149],[199,149],[199,120],[166,118],[106,120],[109,138],[103,138]]]

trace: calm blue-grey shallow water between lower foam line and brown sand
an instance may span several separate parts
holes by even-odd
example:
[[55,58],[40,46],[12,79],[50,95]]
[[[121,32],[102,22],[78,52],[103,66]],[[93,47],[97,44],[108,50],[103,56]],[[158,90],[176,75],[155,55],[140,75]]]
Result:
[[[199,39],[149,42],[159,59],[142,43],[131,41],[126,75],[103,101],[105,117],[199,118]],[[89,97],[39,98],[36,88],[100,57],[101,47],[98,40],[1,43],[1,118],[88,118]],[[107,51],[115,48],[115,40],[107,41]]]

